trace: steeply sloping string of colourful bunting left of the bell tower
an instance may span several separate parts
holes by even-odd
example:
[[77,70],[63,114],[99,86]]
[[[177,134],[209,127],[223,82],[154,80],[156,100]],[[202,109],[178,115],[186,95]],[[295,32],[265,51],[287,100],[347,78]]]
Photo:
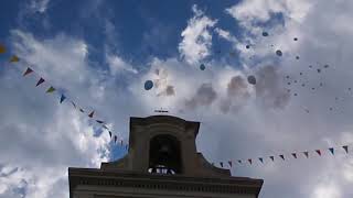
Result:
[[[6,53],[6,52],[7,52],[6,47],[0,44],[0,54],[3,54],[3,53]],[[18,57],[17,55],[12,55],[12,56],[10,57],[10,59],[9,59],[9,63],[10,63],[10,64],[15,64],[15,63],[18,63],[18,62],[20,62],[20,61],[21,61],[20,57]],[[33,74],[38,74],[38,73],[35,73],[35,72],[33,70],[33,68],[26,67],[26,69],[25,69],[24,73],[22,74],[22,76],[23,76],[23,77],[28,77],[28,76],[33,75]],[[39,74],[38,74],[38,76],[39,76],[39,80],[38,80],[38,82],[35,84],[35,87],[42,87],[42,84],[47,82],[47,80],[45,80],[45,79],[44,79],[43,77],[41,77]],[[86,113],[86,110],[84,110],[84,108],[82,108],[81,106],[78,106],[77,102],[71,100],[71,99],[67,97],[67,95],[65,95],[64,92],[60,92],[55,87],[53,87],[53,86],[50,85],[50,87],[46,89],[45,92],[46,92],[46,94],[57,92],[58,96],[60,96],[60,100],[58,100],[60,103],[63,103],[63,102],[65,102],[65,101],[68,101],[75,110],[78,110],[78,111],[82,112],[82,113]],[[107,127],[107,124],[106,124],[105,121],[99,120],[99,119],[96,119],[95,113],[96,113],[96,112],[95,112],[94,110],[92,110],[92,111],[89,111],[89,113],[86,114],[86,116],[87,116],[90,120],[94,120],[97,124],[99,124],[99,125],[101,127],[103,131],[107,131],[107,132],[109,133],[110,140],[114,141],[115,144],[118,144],[118,145],[125,147],[125,150],[127,150],[127,148],[128,148],[128,144],[125,143],[122,139],[120,139],[120,141],[118,142],[118,135],[115,134],[115,133]]]

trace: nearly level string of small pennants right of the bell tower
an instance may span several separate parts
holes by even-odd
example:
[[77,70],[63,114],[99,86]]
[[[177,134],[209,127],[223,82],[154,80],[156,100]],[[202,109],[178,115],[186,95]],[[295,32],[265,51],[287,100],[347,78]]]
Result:
[[[254,163],[265,164],[265,163],[275,163],[277,161],[290,161],[298,160],[299,157],[310,158],[312,156],[322,156],[324,153],[330,155],[335,155],[338,151],[342,151],[344,154],[349,154],[349,144],[336,146],[336,147],[327,147],[313,151],[303,151],[303,152],[291,152],[287,154],[269,155],[266,157],[252,157],[252,158],[239,158],[239,160],[229,160],[221,161],[218,164],[222,168],[234,167],[235,165],[254,165]],[[213,165],[215,165],[213,163]],[[217,165],[217,164],[216,164]]]

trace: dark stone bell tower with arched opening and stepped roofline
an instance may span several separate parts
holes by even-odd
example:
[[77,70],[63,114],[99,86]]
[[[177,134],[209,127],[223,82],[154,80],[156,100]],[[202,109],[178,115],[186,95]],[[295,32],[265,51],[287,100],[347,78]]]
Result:
[[128,154],[100,168],[68,168],[71,198],[257,198],[264,180],[232,177],[197,153],[200,122],[130,118]]

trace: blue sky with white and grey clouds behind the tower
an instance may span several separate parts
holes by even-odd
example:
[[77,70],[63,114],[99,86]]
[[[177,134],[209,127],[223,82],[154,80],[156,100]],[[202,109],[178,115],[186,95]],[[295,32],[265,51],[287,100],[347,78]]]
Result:
[[0,198],[68,197],[67,167],[126,154],[87,113],[127,142],[129,118],[157,109],[200,121],[197,150],[218,167],[232,161],[233,176],[263,178],[263,198],[352,197],[352,10],[350,0],[2,2]]

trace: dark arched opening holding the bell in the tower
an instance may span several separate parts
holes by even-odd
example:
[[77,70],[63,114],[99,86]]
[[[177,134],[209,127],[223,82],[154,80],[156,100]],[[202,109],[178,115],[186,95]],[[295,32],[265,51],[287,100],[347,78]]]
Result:
[[150,140],[149,173],[181,174],[180,141],[172,135],[157,135]]

